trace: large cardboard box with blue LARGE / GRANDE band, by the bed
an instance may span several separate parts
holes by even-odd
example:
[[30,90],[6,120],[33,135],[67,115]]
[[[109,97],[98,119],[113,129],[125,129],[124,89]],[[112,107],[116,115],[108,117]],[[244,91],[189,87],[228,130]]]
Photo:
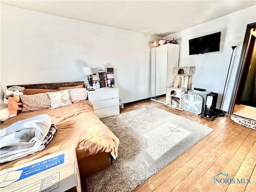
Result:
[[75,148],[0,171],[1,192],[81,192]]

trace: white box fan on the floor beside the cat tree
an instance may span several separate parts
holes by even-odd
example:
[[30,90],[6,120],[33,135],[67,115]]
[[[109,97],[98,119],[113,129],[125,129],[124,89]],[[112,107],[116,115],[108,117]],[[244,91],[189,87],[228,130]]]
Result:
[[182,109],[194,114],[201,114],[204,98],[195,94],[184,94],[182,98]]

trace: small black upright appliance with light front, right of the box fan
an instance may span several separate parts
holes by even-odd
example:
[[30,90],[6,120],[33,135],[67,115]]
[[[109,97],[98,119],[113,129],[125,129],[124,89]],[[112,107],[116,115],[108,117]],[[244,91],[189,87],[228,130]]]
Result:
[[206,96],[204,117],[212,119],[215,116],[218,93],[209,93]]

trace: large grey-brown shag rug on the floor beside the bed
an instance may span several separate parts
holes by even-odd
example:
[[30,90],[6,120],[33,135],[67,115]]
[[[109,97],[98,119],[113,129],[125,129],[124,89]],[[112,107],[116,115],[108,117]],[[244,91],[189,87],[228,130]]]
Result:
[[213,130],[151,106],[101,121],[120,140],[118,158],[86,178],[88,192],[132,191]]

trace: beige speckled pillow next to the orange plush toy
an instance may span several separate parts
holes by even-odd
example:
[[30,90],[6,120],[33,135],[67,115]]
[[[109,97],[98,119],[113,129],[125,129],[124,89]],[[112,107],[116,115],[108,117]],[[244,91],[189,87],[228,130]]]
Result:
[[47,93],[38,93],[34,95],[20,95],[23,103],[22,112],[30,112],[51,107],[50,97]]

